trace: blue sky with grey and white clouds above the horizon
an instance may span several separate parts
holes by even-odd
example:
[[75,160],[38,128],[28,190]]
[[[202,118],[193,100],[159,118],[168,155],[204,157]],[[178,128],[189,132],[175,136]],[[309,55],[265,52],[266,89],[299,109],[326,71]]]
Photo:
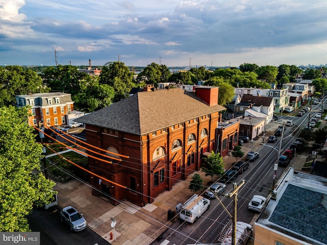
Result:
[[[0,0],[0,65],[326,64],[326,0]],[[160,58],[161,57],[161,58]]]

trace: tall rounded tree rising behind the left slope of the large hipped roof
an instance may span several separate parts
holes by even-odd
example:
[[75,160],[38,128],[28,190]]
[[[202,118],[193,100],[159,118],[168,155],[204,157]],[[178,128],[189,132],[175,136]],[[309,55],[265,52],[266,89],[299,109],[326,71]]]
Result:
[[133,83],[133,72],[123,62],[119,61],[102,67],[99,83],[107,84],[113,88],[115,92],[113,102],[127,97],[129,91],[135,87]]

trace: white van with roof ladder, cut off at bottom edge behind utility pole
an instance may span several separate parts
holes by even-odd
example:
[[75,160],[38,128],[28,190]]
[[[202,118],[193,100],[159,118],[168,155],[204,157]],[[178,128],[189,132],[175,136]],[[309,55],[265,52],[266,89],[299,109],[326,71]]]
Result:
[[[232,231],[232,222],[230,220],[230,222],[220,233],[218,243],[223,245],[231,245]],[[236,222],[236,245],[246,244],[249,237],[252,237],[251,225],[240,221]]]

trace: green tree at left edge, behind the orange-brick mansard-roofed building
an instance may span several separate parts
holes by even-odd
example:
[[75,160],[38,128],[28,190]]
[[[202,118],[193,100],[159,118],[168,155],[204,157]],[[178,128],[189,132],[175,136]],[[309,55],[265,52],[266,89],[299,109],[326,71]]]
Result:
[[36,72],[17,65],[0,66],[0,106],[14,105],[15,95],[48,91]]

